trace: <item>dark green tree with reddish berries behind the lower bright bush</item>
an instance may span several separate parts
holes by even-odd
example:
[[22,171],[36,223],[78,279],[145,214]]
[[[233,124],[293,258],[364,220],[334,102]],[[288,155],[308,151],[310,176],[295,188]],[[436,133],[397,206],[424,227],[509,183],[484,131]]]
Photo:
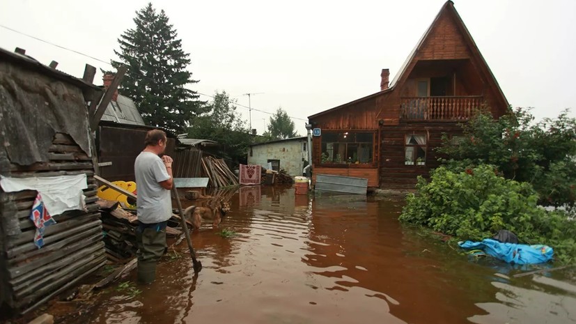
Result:
[[463,130],[460,138],[445,136],[438,148],[448,157],[446,167],[462,171],[492,164],[504,178],[531,183],[540,203],[575,204],[576,120],[568,111],[538,123],[522,109],[498,120],[478,114]]

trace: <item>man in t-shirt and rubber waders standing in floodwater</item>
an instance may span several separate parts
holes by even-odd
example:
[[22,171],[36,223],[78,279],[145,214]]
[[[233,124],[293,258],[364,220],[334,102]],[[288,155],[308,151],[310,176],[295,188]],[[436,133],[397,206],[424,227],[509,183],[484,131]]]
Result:
[[144,284],[156,278],[156,262],[166,249],[166,222],[172,215],[170,190],[173,185],[172,158],[159,157],[166,150],[166,133],[150,130],[146,148],[134,162],[137,185],[136,230],[138,243],[138,280]]

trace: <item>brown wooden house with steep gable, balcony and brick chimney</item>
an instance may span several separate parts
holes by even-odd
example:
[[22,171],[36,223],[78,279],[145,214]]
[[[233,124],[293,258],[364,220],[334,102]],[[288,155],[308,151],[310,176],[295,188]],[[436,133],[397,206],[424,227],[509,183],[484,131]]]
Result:
[[309,116],[313,173],[368,179],[368,187],[413,189],[438,166],[442,134],[459,134],[476,109],[509,111],[494,75],[452,1],[440,9],[389,86]]

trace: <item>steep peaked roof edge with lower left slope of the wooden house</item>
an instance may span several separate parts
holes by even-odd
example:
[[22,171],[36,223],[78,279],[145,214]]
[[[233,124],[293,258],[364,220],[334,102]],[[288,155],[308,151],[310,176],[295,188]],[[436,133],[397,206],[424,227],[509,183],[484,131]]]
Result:
[[394,91],[394,88],[396,88],[396,86],[398,84],[400,84],[400,82],[403,82],[403,80],[407,78],[407,75],[410,74],[410,70],[409,70],[410,63],[412,63],[412,61],[414,61],[414,59],[416,59],[417,54],[421,50],[422,46],[426,43],[428,36],[430,36],[430,32],[433,31],[434,27],[439,22],[439,18],[444,13],[448,13],[449,15],[453,16],[454,22],[456,22],[456,26],[460,30],[460,33],[462,34],[462,36],[464,36],[465,42],[467,43],[467,45],[469,45],[472,54],[475,55],[478,58],[479,63],[481,65],[483,65],[483,67],[485,68],[486,77],[490,80],[490,82],[492,82],[494,84],[494,87],[497,89],[498,95],[500,96],[503,104],[506,107],[508,107],[508,105],[509,105],[508,100],[506,100],[506,96],[504,96],[504,92],[502,92],[502,89],[500,88],[500,85],[498,84],[496,77],[494,76],[494,74],[492,74],[492,70],[490,70],[488,63],[486,63],[484,57],[482,56],[480,50],[478,49],[478,46],[476,45],[476,42],[474,42],[472,35],[468,31],[466,25],[464,24],[464,21],[462,21],[462,17],[460,17],[460,15],[458,14],[458,11],[456,11],[456,8],[454,8],[454,3],[451,0],[449,0],[449,1],[446,1],[446,3],[444,3],[442,8],[440,8],[440,10],[439,10],[438,14],[436,15],[436,17],[434,18],[432,24],[430,24],[430,26],[428,26],[428,29],[426,29],[426,31],[423,33],[423,35],[419,39],[416,46],[412,49],[412,51],[410,52],[410,54],[408,55],[408,57],[406,58],[404,63],[400,66],[400,70],[394,76],[394,79],[392,79],[392,81],[390,82],[389,88],[387,88],[384,91],[378,91],[377,93],[367,95],[366,97],[359,98],[357,100],[353,100],[353,101],[348,102],[344,105],[339,105],[339,106],[334,107],[332,109],[320,111],[318,114],[313,114],[313,115],[309,116],[308,118],[309,119],[316,118],[320,115],[327,114],[329,112],[341,109],[343,107],[347,107],[348,105],[355,104],[355,103],[358,103],[358,102],[361,102],[361,101],[364,101],[364,100],[367,100],[370,98],[375,98],[378,95],[383,95],[384,93]]

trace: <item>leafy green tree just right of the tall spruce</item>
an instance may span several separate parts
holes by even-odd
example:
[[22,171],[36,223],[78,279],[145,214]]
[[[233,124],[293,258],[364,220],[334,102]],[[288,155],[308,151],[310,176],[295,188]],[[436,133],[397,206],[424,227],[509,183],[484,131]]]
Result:
[[190,138],[216,141],[218,154],[232,165],[246,160],[252,140],[246,122],[236,109],[236,100],[231,99],[226,91],[216,92],[206,111],[192,119],[188,130]]

